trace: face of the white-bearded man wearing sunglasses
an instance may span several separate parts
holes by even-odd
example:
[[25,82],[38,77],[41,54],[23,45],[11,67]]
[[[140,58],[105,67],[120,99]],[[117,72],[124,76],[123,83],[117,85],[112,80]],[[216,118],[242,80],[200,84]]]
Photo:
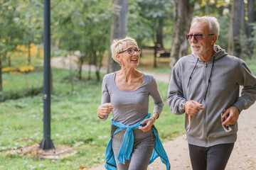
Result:
[[205,21],[198,21],[194,23],[191,26],[191,29],[189,31],[190,35],[195,34],[203,34],[202,40],[196,40],[194,37],[192,37],[189,41],[191,45],[191,50],[194,55],[198,55],[199,57],[205,56],[205,55],[211,55],[208,54],[211,47],[213,47],[214,43],[212,44],[212,35],[210,33],[209,24]]

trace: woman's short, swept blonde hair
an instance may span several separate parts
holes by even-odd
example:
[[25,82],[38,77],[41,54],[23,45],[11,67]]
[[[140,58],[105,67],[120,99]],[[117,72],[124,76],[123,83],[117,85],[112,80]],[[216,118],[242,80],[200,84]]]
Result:
[[136,40],[130,37],[113,40],[110,48],[112,52],[112,58],[114,59],[115,62],[119,63],[119,61],[117,60],[117,54],[119,52],[122,52],[123,50],[126,50],[129,45],[135,45],[137,48],[139,48]]

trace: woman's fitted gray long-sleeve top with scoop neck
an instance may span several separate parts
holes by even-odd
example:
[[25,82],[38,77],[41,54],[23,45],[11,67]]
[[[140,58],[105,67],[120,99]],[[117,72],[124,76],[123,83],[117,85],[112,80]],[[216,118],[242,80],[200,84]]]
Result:
[[[154,112],[161,113],[164,102],[157,89],[156,80],[149,74],[142,73],[143,82],[134,91],[122,91],[115,84],[116,72],[106,74],[102,81],[101,104],[113,104],[113,120],[124,125],[134,125],[149,113],[149,95],[154,101]],[[105,116],[106,120],[108,116]]]

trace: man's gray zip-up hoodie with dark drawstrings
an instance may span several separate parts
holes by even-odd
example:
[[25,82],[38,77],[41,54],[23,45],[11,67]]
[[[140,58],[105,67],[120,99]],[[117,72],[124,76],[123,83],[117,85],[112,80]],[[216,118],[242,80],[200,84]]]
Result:
[[[256,77],[245,62],[217,45],[215,50],[208,62],[196,55],[181,57],[174,66],[167,96],[169,108],[176,115],[184,113],[180,107],[183,101],[203,104],[204,111],[185,117],[188,143],[200,147],[235,142],[238,123],[230,125],[229,132],[225,131],[220,113],[230,106],[241,112],[256,99]],[[243,86],[241,96],[240,86]]]

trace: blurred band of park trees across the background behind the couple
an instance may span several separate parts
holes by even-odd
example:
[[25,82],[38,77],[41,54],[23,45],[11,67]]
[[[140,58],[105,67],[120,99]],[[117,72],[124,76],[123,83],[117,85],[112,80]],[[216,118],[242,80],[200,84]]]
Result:
[[[220,23],[217,44],[231,55],[252,60],[255,6],[255,0],[52,0],[52,57],[74,55],[79,59],[75,73],[78,79],[82,79],[82,64],[89,64],[96,67],[95,76],[100,80],[102,61],[112,61],[112,40],[128,35],[140,47],[154,50],[154,67],[160,50],[170,53],[173,66],[190,52],[185,35],[191,18],[211,15]],[[0,8],[1,68],[33,65],[42,60],[43,0],[1,0]],[[32,47],[36,47],[33,55]],[[112,63],[107,62],[111,68],[108,72],[118,69]]]

